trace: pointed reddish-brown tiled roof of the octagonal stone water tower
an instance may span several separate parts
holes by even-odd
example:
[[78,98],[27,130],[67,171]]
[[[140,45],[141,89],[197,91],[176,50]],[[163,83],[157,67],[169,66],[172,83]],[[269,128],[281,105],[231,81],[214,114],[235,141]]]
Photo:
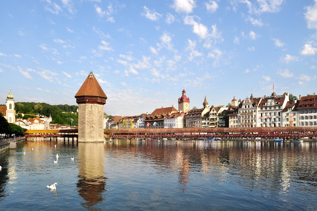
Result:
[[107,95],[103,92],[96,77],[92,72],[88,75],[81,88],[75,94],[75,97],[79,96],[95,96],[107,98]]

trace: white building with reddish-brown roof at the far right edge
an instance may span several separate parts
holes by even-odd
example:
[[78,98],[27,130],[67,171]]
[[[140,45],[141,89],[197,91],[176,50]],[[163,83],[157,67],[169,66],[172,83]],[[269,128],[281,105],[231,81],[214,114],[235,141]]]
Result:
[[299,96],[298,126],[317,126],[317,95]]

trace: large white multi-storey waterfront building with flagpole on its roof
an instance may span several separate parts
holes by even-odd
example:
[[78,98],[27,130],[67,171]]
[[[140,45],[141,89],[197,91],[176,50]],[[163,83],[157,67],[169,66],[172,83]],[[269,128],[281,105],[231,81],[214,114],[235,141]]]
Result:
[[282,112],[289,101],[288,93],[261,98],[258,105],[258,122],[257,127],[282,127]]

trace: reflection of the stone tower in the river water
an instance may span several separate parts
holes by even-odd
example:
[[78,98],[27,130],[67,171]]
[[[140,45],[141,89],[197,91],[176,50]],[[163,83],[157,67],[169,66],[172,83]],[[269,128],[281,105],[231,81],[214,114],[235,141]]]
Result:
[[78,194],[86,201],[85,208],[91,208],[103,200],[106,191],[104,177],[103,143],[78,143]]

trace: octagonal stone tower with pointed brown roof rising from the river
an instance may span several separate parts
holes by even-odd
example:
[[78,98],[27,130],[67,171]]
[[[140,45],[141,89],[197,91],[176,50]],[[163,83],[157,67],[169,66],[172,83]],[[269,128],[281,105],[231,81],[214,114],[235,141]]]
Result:
[[78,142],[103,142],[103,105],[107,95],[93,72],[75,94],[78,103]]

